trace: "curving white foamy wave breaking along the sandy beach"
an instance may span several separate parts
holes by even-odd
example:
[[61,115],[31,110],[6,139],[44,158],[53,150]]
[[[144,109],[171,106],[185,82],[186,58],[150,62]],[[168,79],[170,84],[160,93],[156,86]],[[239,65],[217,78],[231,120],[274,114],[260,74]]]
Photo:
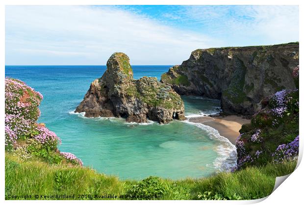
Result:
[[221,144],[217,145],[215,148],[216,152],[219,154],[219,157],[217,157],[213,162],[213,167],[215,167],[218,172],[230,171],[236,166],[236,147],[226,137],[221,136],[218,130],[202,123],[192,123],[187,120],[182,122],[193,124],[200,129],[207,131],[210,139],[215,139],[221,142]]

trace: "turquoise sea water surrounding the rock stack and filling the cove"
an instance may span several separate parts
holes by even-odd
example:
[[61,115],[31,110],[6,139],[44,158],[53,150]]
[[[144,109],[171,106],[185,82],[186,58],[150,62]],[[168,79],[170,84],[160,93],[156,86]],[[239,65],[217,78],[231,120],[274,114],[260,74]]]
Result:
[[[157,77],[168,66],[133,66],[134,78]],[[85,118],[74,114],[90,83],[105,66],[5,66],[5,76],[18,78],[41,92],[39,122],[62,140],[86,166],[121,179],[150,175],[171,179],[209,176],[235,164],[235,147],[213,128],[188,121],[169,124],[126,123],[118,118]],[[220,102],[183,96],[186,115],[218,112]]]

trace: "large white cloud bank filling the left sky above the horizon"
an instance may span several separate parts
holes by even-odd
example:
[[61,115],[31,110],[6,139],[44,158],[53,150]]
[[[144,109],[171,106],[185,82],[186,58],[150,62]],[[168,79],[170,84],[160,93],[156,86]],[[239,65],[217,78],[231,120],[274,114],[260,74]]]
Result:
[[6,6],[5,32],[6,64],[37,64],[38,58],[105,64],[118,51],[133,64],[178,64],[214,41],[125,10],[89,6]]

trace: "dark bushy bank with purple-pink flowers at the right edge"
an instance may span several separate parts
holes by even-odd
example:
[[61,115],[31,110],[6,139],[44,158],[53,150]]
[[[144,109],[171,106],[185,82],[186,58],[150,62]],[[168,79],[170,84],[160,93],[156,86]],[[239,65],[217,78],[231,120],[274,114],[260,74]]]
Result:
[[[236,140],[237,169],[268,162],[297,159],[299,153],[299,66],[293,71],[297,86],[263,100],[264,108],[244,124]],[[288,123],[286,123],[288,122]]]

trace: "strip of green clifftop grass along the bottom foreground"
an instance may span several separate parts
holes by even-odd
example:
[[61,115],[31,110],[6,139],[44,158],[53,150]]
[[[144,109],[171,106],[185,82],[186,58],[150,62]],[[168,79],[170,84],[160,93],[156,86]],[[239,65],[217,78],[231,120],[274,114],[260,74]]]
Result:
[[[296,161],[247,167],[233,173],[219,173],[202,179],[165,180],[150,177],[143,181],[119,180],[95,170],[68,165],[47,164],[28,159],[21,162],[5,154],[5,199],[8,195],[160,195],[165,200],[240,200],[268,196],[275,177],[291,173]],[[88,200],[88,198],[84,198]]]

